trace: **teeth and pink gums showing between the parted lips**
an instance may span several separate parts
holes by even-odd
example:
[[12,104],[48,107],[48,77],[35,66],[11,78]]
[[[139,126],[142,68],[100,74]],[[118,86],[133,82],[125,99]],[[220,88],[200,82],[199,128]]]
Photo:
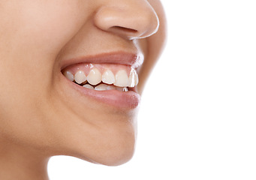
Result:
[[95,91],[128,92],[139,83],[137,71],[126,65],[80,63],[65,68],[62,74],[71,82]]

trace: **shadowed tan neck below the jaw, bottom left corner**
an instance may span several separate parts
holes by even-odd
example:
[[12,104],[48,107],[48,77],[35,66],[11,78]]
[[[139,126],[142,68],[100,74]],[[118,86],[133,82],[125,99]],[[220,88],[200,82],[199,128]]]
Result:
[[49,180],[48,160],[35,149],[0,141],[0,179]]

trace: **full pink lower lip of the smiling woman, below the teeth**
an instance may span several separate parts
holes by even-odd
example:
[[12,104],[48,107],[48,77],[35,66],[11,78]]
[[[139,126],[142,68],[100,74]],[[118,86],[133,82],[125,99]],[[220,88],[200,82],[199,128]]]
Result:
[[135,89],[131,89],[128,92],[119,92],[117,90],[96,91],[93,89],[86,89],[83,86],[79,86],[76,83],[71,82],[62,74],[62,79],[67,86],[80,93],[80,95],[86,98],[92,98],[95,101],[109,105],[111,107],[132,110],[139,106],[140,95],[135,92]]

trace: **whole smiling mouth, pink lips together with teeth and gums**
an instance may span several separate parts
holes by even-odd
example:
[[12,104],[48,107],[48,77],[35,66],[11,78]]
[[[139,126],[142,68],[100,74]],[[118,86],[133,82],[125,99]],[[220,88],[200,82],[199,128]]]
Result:
[[71,59],[62,68],[62,77],[71,88],[69,91],[78,91],[83,98],[134,109],[140,104],[136,69],[142,64],[141,59],[126,53]]

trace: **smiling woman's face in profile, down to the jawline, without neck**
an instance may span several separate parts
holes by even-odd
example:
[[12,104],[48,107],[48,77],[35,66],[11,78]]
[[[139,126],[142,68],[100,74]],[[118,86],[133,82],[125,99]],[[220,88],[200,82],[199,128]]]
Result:
[[125,163],[163,41],[158,0],[0,0],[0,137]]

